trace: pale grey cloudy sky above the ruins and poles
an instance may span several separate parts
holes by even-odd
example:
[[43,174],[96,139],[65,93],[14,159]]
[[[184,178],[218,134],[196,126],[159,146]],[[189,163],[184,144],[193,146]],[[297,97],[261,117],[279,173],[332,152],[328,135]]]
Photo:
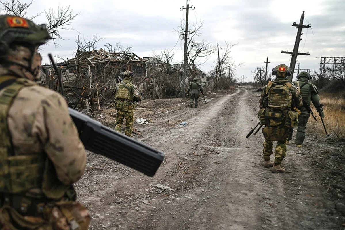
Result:
[[[218,43],[220,47],[225,47],[225,41],[238,43],[231,52],[236,63],[243,62],[236,71],[238,78],[244,75],[245,80],[252,80],[251,71],[256,66],[264,67],[266,57],[271,62],[269,69],[280,63],[289,66],[289,54],[280,52],[292,51],[297,29],[291,25],[299,23],[303,10],[304,24],[310,23],[312,30],[303,29],[299,51],[309,52],[310,56],[298,56],[300,68],[318,69],[316,57],[345,56],[345,0],[190,0],[188,3],[195,6],[189,13],[190,23],[204,21],[198,39]],[[67,39],[58,41],[61,46],[51,44],[43,49],[46,62],[49,52],[71,57],[78,33],[104,38],[98,48],[120,41],[123,46],[132,46],[140,57],[152,56],[153,50],[175,47],[175,62],[183,60],[183,42],[174,30],[185,18],[186,10],[180,11],[182,6],[186,7],[184,0],[33,0],[28,14],[57,8],[58,4],[71,5],[79,15],[71,25],[75,30],[60,32]],[[45,18],[38,17],[36,21],[44,23]],[[215,54],[201,69],[211,70],[216,60]]]

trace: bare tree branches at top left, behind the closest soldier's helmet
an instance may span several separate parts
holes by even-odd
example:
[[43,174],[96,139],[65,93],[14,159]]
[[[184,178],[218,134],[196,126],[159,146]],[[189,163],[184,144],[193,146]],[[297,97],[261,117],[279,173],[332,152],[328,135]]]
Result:
[[[43,12],[36,14],[35,16],[27,17],[27,10],[31,6],[33,0],[30,3],[22,3],[20,0],[0,0],[3,8],[0,8],[0,12],[5,14],[15,15],[18,17],[24,17],[28,19],[34,19],[37,16],[41,15]],[[68,7],[60,7],[55,11],[52,8],[45,10],[46,20],[47,20],[47,29],[53,37],[55,46],[55,37],[58,39],[63,39],[60,36],[60,30],[73,30],[68,26],[71,25],[72,21],[77,17],[79,13],[73,13],[73,10]]]

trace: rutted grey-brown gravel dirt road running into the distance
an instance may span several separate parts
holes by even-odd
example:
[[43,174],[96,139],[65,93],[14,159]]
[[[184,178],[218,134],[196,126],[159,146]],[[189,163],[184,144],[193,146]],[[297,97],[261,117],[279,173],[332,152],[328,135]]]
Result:
[[262,133],[245,138],[257,123],[258,95],[237,88],[137,125],[134,138],[166,153],[152,178],[89,153],[76,187],[90,229],[343,229],[334,188],[307,150],[288,146],[286,173],[263,167]]

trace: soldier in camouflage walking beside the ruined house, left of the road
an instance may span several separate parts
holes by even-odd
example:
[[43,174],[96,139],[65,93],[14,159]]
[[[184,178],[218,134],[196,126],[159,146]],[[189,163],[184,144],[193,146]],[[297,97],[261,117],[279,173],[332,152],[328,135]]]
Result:
[[117,109],[115,130],[118,132],[121,131],[122,122],[125,118],[125,134],[131,137],[134,122],[134,102],[141,101],[141,94],[138,88],[132,84],[133,73],[127,70],[124,72],[123,76],[125,79],[115,87],[115,108]]

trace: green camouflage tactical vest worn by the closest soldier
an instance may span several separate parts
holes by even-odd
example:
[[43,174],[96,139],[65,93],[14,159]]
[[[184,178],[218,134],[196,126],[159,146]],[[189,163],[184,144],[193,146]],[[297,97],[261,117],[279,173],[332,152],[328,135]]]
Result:
[[8,111],[18,92],[36,83],[14,77],[0,77],[0,83],[8,79],[16,80],[5,87],[0,96],[0,193],[22,193],[40,188],[51,199],[59,199],[66,192],[70,193],[69,197],[74,196],[74,189],[58,180],[55,167],[46,153],[14,153],[7,123]]

